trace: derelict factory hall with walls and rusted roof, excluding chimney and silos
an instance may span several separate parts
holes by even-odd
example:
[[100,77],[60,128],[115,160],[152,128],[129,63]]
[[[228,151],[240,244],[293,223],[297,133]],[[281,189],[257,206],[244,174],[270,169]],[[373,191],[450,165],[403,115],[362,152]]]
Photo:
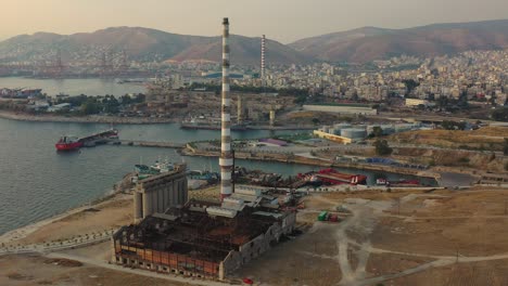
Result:
[[294,230],[295,211],[264,193],[239,188],[221,204],[190,200],[124,226],[113,236],[114,261],[224,280]]

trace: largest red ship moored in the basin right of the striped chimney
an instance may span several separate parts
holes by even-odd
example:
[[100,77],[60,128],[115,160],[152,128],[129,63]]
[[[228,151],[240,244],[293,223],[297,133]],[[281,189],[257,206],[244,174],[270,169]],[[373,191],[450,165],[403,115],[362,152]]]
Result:
[[309,184],[319,185],[338,185],[338,184],[350,184],[358,185],[367,183],[367,176],[365,174],[351,174],[341,173],[334,169],[322,169],[314,173],[299,174],[299,178],[307,180]]

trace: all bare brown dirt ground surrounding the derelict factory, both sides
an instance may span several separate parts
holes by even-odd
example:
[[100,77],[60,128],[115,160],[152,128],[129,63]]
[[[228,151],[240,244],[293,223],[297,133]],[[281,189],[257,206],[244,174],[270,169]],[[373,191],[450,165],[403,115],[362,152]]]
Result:
[[[190,197],[217,192],[192,191]],[[251,277],[257,285],[508,285],[508,190],[368,190],[314,194],[304,203],[306,208],[297,213],[303,233],[249,262],[236,278]],[[130,200],[103,206],[43,226],[25,239],[131,222]],[[341,222],[316,221],[321,210],[336,212],[338,207],[346,210]],[[105,242],[64,253],[105,262],[110,251]],[[0,257],[0,285],[167,283],[87,263],[64,268],[41,257]]]

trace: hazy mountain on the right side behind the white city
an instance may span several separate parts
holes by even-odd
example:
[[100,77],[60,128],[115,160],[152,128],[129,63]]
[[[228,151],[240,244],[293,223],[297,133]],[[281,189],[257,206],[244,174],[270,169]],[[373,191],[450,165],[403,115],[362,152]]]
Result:
[[404,29],[363,27],[289,43],[326,62],[368,63],[402,54],[434,56],[508,49],[508,20],[439,23]]

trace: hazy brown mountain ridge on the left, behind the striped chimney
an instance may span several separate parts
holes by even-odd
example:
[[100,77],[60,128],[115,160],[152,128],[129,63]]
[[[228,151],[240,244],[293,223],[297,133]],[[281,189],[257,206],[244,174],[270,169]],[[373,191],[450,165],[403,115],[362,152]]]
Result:
[[[234,64],[256,65],[261,58],[261,38],[230,36]],[[313,62],[293,49],[267,40],[274,64],[306,64]],[[93,32],[59,35],[35,32],[18,35],[0,42],[0,61],[50,61],[55,50],[65,61],[100,58],[104,51],[126,51],[129,58],[140,62],[206,60],[220,62],[220,36],[188,36],[144,27],[109,27]],[[90,50],[96,50],[90,52]]]

